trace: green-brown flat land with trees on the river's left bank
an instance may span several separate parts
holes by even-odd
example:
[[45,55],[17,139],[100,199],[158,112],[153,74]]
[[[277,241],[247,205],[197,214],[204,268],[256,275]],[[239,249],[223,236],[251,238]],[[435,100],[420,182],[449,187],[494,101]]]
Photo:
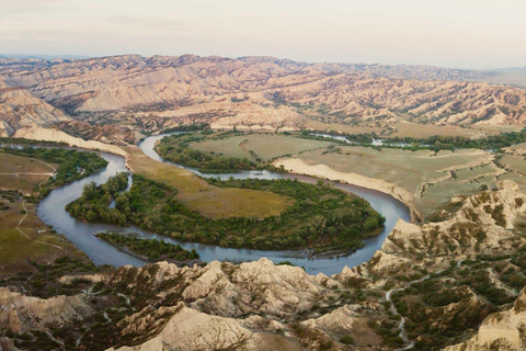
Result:
[[[11,149],[7,151],[24,152]],[[47,192],[77,177],[88,174],[72,172],[69,166],[76,159],[82,159],[83,162],[99,160],[93,162],[93,166],[100,168],[105,166],[102,162],[104,160],[96,154],[85,157],[87,154],[73,150],[48,149],[28,152],[42,159],[0,152],[0,173],[9,173],[0,176],[0,273],[34,270],[32,262],[42,264],[65,256],[87,259],[71,242],[38,218],[37,197],[43,195],[43,191]],[[57,162],[52,162],[54,160]],[[58,161],[64,163],[59,165]],[[52,176],[57,177],[50,179]]]

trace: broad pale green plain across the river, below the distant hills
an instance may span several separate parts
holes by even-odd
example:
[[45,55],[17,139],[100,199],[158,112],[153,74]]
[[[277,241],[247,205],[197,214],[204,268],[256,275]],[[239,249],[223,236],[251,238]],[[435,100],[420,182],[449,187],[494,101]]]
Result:
[[505,155],[498,160],[495,154],[481,149],[379,149],[255,133],[198,136],[187,147],[225,157],[258,157],[263,162],[299,158],[307,165],[322,163],[340,172],[384,180],[410,191],[424,216],[434,214],[455,195],[474,193],[483,184],[493,188],[499,179],[518,179],[521,186],[526,183],[521,179],[521,172],[526,171],[522,157]]

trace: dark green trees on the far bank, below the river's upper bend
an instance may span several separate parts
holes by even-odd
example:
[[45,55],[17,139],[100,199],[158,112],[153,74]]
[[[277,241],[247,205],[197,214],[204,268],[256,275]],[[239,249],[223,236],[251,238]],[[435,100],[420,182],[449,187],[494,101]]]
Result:
[[202,136],[188,134],[171,135],[161,139],[156,151],[164,159],[186,167],[197,168],[203,173],[229,173],[239,170],[263,169],[248,158],[225,157],[192,149],[188,144],[202,139]]

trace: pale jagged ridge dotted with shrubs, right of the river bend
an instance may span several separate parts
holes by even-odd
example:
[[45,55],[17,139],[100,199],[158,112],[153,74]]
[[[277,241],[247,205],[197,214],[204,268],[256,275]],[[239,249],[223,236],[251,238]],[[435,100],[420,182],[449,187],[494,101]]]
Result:
[[513,236],[510,229],[525,212],[526,195],[517,184],[500,181],[496,191],[483,191],[464,200],[447,220],[418,226],[400,219],[382,250],[431,256],[487,251]]

